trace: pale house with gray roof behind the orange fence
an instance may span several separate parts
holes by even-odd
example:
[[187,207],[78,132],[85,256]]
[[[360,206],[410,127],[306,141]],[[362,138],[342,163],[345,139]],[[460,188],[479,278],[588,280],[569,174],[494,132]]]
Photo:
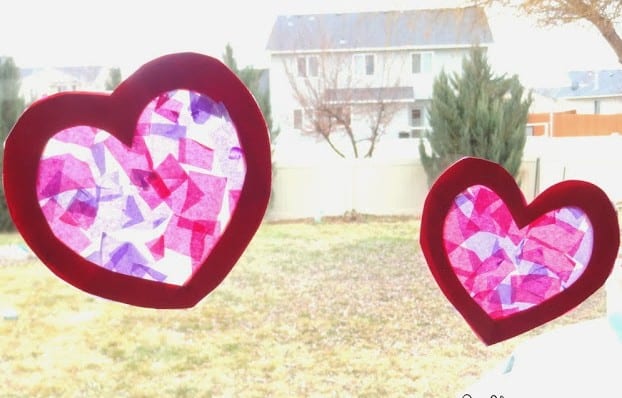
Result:
[[579,114],[622,113],[622,70],[570,71],[563,87],[536,88],[534,92],[563,101],[566,109]]

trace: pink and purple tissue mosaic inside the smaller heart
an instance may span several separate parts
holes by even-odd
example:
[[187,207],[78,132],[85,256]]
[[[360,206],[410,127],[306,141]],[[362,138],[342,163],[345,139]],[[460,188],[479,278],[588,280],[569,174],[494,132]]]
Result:
[[455,198],[443,228],[458,279],[492,318],[537,305],[574,283],[589,262],[594,234],[574,207],[519,229],[503,200],[481,185]]

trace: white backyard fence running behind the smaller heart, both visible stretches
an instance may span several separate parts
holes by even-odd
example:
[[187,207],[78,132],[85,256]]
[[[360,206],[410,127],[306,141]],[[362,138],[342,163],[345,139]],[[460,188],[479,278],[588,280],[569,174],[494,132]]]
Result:
[[[622,137],[529,137],[519,176],[527,201],[556,182],[580,179],[622,201]],[[278,161],[266,218],[290,220],[341,216],[420,216],[428,192],[423,167],[410,159]]]

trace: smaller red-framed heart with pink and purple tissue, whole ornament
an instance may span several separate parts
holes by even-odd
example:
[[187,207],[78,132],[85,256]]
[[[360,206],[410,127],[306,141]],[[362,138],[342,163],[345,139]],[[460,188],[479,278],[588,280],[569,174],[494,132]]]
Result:
[[500,165],[464,158],[430,188],[420,243],[447,299],[486,344],[524,333],[587,299],[619,246],[616,211],[584,181],[527,205]]

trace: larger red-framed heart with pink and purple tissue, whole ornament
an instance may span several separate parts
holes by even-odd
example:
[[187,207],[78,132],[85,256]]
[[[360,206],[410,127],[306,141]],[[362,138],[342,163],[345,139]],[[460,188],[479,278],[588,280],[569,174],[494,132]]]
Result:
[[155,59],[111,94],[32,104],[4,152],[26,243],[56,275],[127,304],[186,308],[218,286],[263,219],[261,111],[220,61]]

